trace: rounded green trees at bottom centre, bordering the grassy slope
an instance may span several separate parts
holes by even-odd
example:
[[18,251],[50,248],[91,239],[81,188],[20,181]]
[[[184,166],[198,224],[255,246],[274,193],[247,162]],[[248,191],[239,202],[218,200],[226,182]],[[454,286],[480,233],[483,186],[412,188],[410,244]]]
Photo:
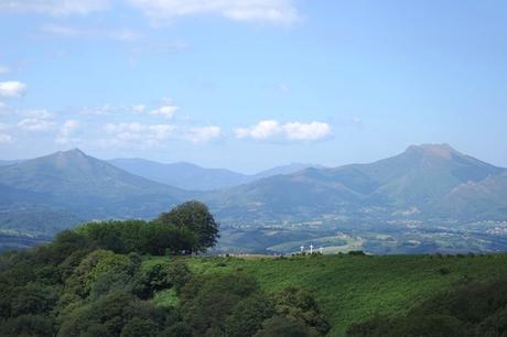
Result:
[[324,336],[330,325],[312,295],[298,287],[266,294],[242,274],[195,278],[181,291],[194,336]]

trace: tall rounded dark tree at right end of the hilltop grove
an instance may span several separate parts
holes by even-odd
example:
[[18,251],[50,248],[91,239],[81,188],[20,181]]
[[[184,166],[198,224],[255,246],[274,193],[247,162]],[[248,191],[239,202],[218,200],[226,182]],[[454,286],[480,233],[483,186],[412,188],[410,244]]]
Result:
[[157,221],[195,232],[198,240],[193,247],[194,251],[206,251],[207,248],[214,247],[219,238],[218,224],[207,206],[199,202],[186,202],[176,206],[171,211],[161,214]]

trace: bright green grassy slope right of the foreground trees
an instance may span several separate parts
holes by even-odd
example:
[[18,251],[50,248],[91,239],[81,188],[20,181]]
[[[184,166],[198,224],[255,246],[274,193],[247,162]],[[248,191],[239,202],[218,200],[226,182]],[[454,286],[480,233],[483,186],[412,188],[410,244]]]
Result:
[[[169,261],[150,258],[144,263]],[[333,328],[344,336],[352,323],[399,315],[455,284],[507,278],[507,254],[489,256],[312,256],[285,259],[187,258],[195,273],[246,273],[266,291],[298,285],[312,291]],[[174,293],[155,296],[177,303]]]

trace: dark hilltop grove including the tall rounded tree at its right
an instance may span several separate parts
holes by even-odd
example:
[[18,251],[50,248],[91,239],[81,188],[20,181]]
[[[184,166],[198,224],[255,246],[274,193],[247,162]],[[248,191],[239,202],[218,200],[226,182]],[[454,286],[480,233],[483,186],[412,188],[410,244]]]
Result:
[[90,222],[78,227],[76,232],[117,253],[190,254],[215,246],[218,225],[206,205],[187,202],[152,221]]

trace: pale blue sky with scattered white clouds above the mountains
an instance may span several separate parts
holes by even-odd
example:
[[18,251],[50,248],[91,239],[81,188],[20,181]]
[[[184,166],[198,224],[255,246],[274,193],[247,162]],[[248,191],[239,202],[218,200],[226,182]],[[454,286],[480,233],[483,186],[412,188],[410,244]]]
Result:
[[0,159],[507,167],[507,3],[0,0]]

